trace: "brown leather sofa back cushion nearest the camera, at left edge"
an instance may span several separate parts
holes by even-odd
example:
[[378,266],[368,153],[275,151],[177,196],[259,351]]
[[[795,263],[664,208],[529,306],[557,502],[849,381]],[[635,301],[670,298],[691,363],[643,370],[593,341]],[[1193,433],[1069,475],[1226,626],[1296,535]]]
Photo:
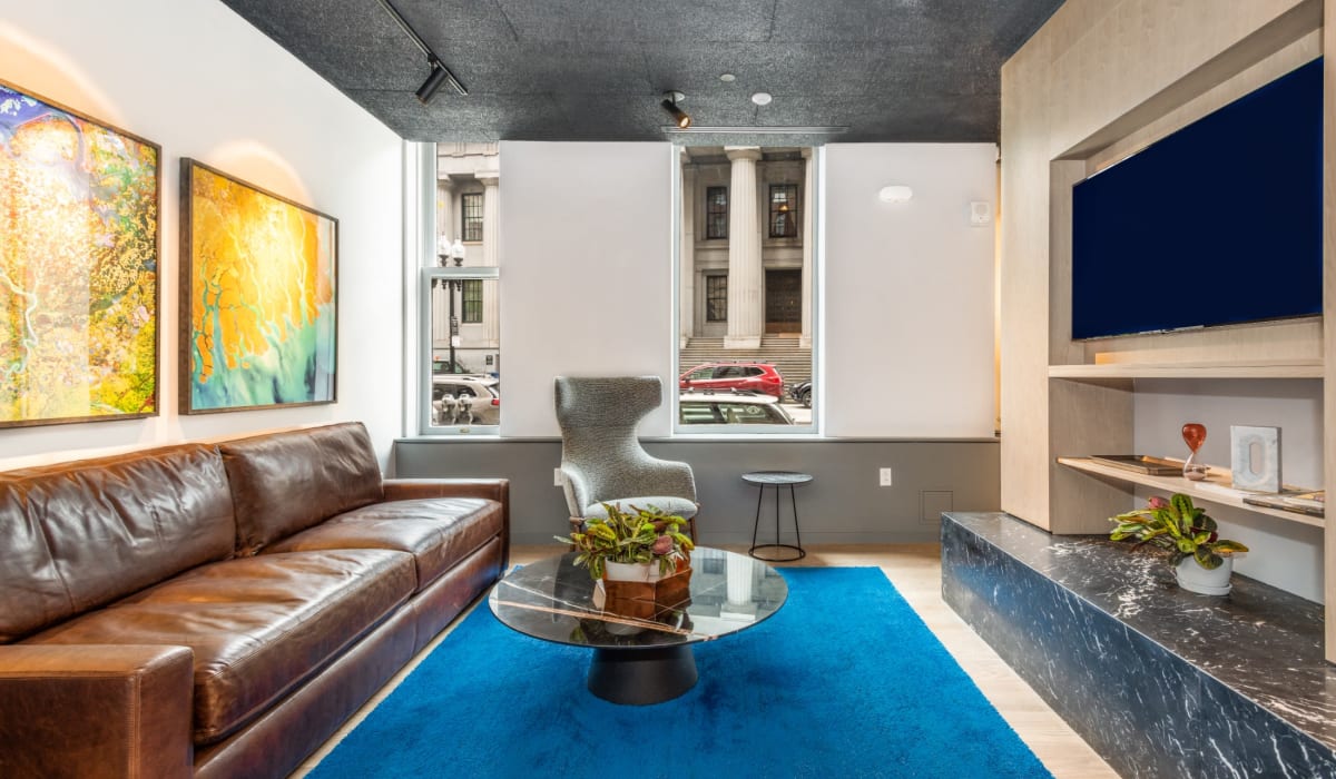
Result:
[[212,445],[0,474],[0,643],[223,560],[235,537]]

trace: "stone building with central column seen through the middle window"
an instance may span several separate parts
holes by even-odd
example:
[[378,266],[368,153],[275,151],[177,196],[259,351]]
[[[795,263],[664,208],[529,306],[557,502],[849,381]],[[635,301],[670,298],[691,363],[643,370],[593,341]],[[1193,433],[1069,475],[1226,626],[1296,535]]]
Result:
[[811,152],[679,150],[684,350],[704,342],[717,345],[720,358],[749,358],[763,347],[811,349]]

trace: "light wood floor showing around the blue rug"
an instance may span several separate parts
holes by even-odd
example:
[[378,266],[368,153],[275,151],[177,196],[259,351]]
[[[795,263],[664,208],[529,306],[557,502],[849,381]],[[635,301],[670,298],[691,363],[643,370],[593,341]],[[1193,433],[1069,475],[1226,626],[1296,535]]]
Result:
[[[731,548],[745,552],[744,548]],[[560,552],[561,547],[516,547],[512,564],[524,565]],[[942,601],[941,549],[937,544],[870,544],[808,547],[807,557],[786,565],[875,565],[895,584],[904,600],[983,691],[1002,718],[1057,779],[1113,779],[1117,774],[1053,712],[993,649]],[[485,605],[482,608],[486,608]],[[458,623],[458,620],[457,620]],[[346,732],[375,706],[445,637],[437,636],[374,699],[350,719],[294,776],[305,776]],[[945,779],[945,778],[943,778]]]

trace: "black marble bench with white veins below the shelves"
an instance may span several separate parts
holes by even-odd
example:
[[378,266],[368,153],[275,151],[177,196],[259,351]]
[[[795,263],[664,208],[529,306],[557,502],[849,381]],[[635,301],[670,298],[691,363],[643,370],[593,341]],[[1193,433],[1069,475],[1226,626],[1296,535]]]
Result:
[[1321,607],[1002,513],[942,520],[942,597],[1124,776],[1336,778]]

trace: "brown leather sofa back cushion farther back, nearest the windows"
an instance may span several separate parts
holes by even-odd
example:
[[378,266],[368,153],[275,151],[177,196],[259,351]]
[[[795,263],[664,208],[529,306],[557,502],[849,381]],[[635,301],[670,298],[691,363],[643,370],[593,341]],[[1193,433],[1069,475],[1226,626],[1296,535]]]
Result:
[[371,437],[361,422],[266,433],[218,445],[236,506],[236,552],[385,498]]

